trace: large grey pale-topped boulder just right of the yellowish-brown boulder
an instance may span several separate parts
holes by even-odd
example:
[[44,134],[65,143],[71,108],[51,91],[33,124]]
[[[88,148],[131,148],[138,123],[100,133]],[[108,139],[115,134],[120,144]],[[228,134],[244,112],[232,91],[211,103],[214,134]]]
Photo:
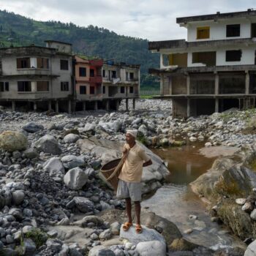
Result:
[[58,141],[51,135],[45,135],[39,138],[39,140],[37,140],[33,146],[39,151],[53,155],[58,155],[62,152]]

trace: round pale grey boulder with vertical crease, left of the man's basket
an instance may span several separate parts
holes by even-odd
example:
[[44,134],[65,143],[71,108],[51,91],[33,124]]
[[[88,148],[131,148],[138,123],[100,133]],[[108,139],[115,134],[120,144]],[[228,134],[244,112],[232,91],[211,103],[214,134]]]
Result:
[[81,189],[87,182],[88,177],[82,169],[75,167],[69,170],[64,176],[64,183],[69,189]]

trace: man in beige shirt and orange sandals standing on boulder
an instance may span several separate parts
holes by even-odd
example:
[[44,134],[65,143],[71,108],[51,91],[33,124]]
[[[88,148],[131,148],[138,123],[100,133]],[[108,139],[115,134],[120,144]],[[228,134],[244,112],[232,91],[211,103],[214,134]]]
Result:
[[[124,165],[118,176],[118,188],[116,196],[126,201],[128,222],[123,225],[123,230],[129,230],[132,226],[132,202],[135,203],[135,214],[137,224],[136,233],[142,232],[140,225],[140,200],[141,200],[141,183],[143,167],[152,165],[151,159],[146,155],[143,148],[136,143],[137,130],[128,129],[125,135],[127,143],[124,144]],[[131,202],[132,201],[132,202]]]

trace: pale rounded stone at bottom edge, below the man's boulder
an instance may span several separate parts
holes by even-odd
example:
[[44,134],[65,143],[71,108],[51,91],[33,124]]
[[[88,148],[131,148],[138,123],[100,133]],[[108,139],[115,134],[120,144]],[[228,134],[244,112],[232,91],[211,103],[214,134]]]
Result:
[[140,256],[162,256],[166,255],[166,245],[160,241],[140,242],[136,251]]

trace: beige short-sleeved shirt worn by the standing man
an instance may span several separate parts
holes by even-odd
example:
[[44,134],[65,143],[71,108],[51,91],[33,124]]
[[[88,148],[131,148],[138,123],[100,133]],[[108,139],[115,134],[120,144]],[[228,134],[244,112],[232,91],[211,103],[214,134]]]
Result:
[[124,149],[125,148],[129,150],[129,153],[127,155],[127,159],[124,161],[124,165],[118,178],[127,182],[140,182],[143,162],[148,162],[150,158],[147,156],[143,148],[138,146],[138,144],[129,148],[129,145],[125,143]]

